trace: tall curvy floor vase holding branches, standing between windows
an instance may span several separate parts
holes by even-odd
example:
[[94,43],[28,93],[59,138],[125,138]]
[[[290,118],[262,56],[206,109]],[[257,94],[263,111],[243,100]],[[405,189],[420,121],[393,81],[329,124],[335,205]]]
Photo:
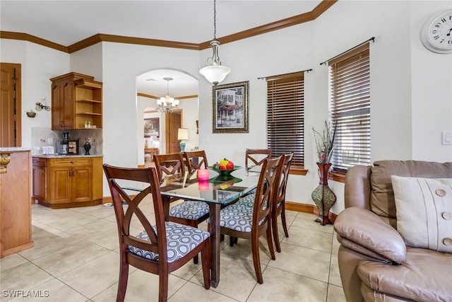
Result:
[[317,163],[317,166],[319,166],[320,182],[316,190],[312,192],[311,197],[317,209],[319,209],[319,216],[315,221],[324,226],[326,224],[333,224],[328,218],[328,214],[336,202],[336,195],[328,187],[328,170],[331,168],[331,163]]

